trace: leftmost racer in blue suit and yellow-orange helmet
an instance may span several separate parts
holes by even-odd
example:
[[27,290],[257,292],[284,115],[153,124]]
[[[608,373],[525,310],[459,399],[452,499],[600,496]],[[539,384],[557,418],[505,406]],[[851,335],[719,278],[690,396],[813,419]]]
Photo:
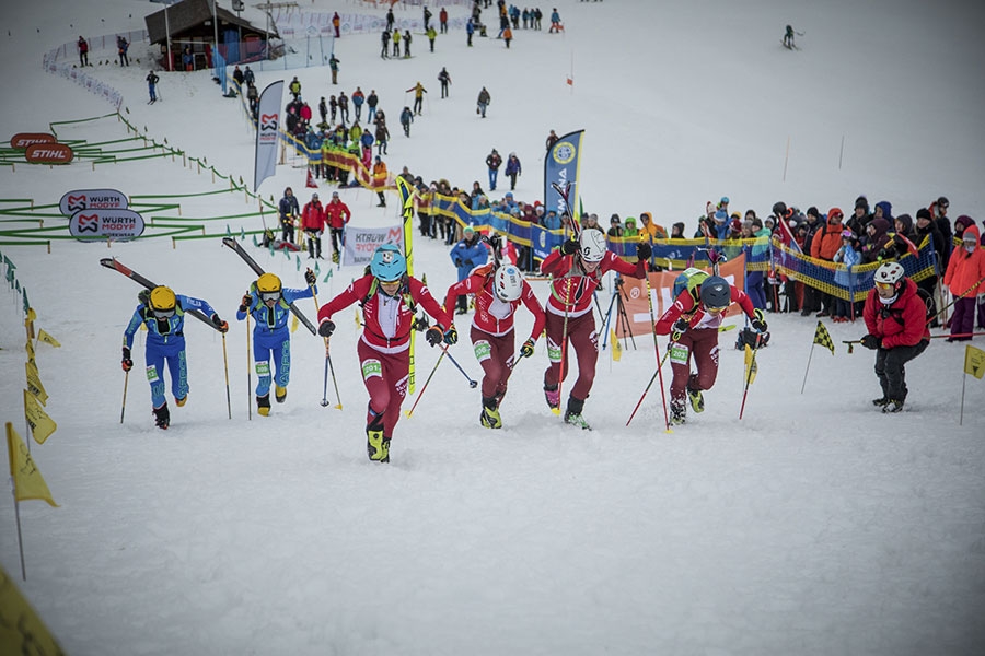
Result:
[[164,397],[164,365],[171,375],[171,394],[178,408],[188,400],[188,361],[185,356],[185,313],[200,311],[209,317],[219,332],[225,333],[229,324],[219,318],[212,306],[200,298],[175,294],[171,288],[158,285],[152,290],[143,290],[137,295],[140,304],[134,311],[130,323],[124,331],[123,370],[129,372],[134,367],[130,348],[134,336],[143,324],[147,327],[143,358],[147,363],[147,379],[151,387],[151,406],[154,410],[154,424],[162,430],[171,425],[171,413],[167,399]]

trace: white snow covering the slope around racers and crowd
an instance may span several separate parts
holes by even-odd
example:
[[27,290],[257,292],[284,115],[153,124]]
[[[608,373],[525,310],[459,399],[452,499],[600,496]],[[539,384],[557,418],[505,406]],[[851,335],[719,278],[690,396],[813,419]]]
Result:
[[[329,92],[375,89],[395,125],[410,104],[405,90],[420,80],[424,116],[409,139],[393,129],[390,168],[486,188],[485,155],[515,151],[524,165],[517,196],[528,201],[542,194],[547,131],[584,128],[581,191],[603,223],[612,212],[650,211],[693,231],[705,202],[722,195],[761,215],[780,199],[850,208],[859,194],[913,214],[946,195],[952,218],[985,216],[985,45],[973,3],[556,5],[565,34],[548,35],[545,16],[543,32],[517,31],[509,50],[479,37],[466,48],[464,33],[452,33],[434,54],[417,36],[413,59],[382,61],[378,35],[344,37],[339,86],[322,68],[266,71],[258,86],[298,74],[313,107]],[[371,11],[323,0],[301,8]],[[141,30],[158,9],[127,0],[8,9],[3,138],[111,113],[43,72],[42,56],[79,34]],[[244,17],[263,24],[252,7]],[[787,23],[804,32],[802,50],[780,46]],[[121,92],[125,115],[149,137],[252,179],[253,134],[239,102],[198,71],[162,73],[163,101],[146,105],[148,54],[135,43],[128,69],[90,70]],[[442,66],[453,82],[444,101]],[[572,69],[573,87],[565,83]],[[485,120],[474,112],[483,85],[493,95]],[[90,142],[126,136],[116,119],[59,128],[63,139]],[[260,191],[279,198],[288,185],[309,199],[303,171],[289,165]],[[36,204],[105,187],[178,196],[223,183],[181,159],[0,172],[0,198]],[[368,191],[343,197],[360,225],[397,220],[394,202],[382,210]],[[242,195],[179,202],[185,219],[255,208]],[[256,219],[207,225],[259,227]],[[418,274],[443,295],[454,279],[445,247],[415,247]],[[61,507],[21,504],[20,582],[13,502],[0,503],[0,563],[68,654],[985,653],[985,386],[970,379],[959,426],[964,344],[934,340],[908,366],[907,410],[884,417],[869,403],[879,388],[861,349],[849,355],[838,343],[833,358],[815,347],[801,395],[816,321],[773,315],[742,421],[733,332],[722,339],[705,413],[665,433],[656,385],[625,427],[654,368],[650,337],[637,336],[621,362],[600,354],[584,411],[592,432],[547,410],[542,340],[512,379],[506,427],[478,425],[478,391],[443,363],[381,467],[366,458],[367,395],[356,326],[345,317],[332,342],[343,410],[320,406],[324,350],[302,329],[287,403],[247,421],[246,333],[233,315],[253,278],[218,238],[0,250],[18,266],[37,327],[62,344],[37,347],[46,410],[59,427],[32,452]],[[303,285],[293,260],[253,253],[286,285]],[[119,343],[138,288],[100,267],[109,256],[233,319],[231,421],[222,340],[189,320],[188,405],[172,401],[171,429],[153,427],[138,342],[119,423]],[[320,300],[355,274],[337,271],[320,284]],[[546,294],[544,283],[535,290]],[[313,316],[313,303],[301,308]],[[522,333],[530,319],[521,317]],[[830,330],[836,342],[865,332],[857,324]],[[13,292],[0,313],[0,348],[2,421],[23,434],[24,331]],[[470,351],[463,340],[451,352],[478,378]],[[418,386],[436,360],[418,347]],[[328,394],[335,401],[331,386]]]

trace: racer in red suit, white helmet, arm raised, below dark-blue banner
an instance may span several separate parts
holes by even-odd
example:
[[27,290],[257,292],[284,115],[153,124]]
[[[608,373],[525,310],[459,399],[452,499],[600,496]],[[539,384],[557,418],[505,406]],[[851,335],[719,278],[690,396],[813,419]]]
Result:
[[[571,386],[565,422],[589,429],[581,415],[595,379],[595,362],[599,359],[599,337],[595,333],[595,315],[592,298],[602,277],[609,271],[644,279],[651,248],[646,242],[636,246],[635,265],[619,259],[605,247],[602,231],[587,229],[578,239],[568,239],[552,250],[541,262],[541,271],[552,277],[551,297],[547,301],[547,358],[551,365],[544,372],[544,396],[552,410],[560,408],[559,382],[568,375],[570,342],[578,360],[578,379]],[[564,371],[561,371],[564,361]]]

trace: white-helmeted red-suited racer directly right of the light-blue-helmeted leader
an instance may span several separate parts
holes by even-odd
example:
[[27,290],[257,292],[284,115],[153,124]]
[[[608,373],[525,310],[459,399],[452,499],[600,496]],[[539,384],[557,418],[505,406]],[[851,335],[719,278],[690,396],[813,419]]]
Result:
[[472,318],[472,348],[485,375],[483,376],[483,411],[479,423],[487,429],[502,427],[499,405],[506,396],[507,383],[515,364],[513,313],[520,303],[534,316],[533,330],[520,347],[520,356],[533,355],[537,337],[544,329],[544,308],[530,284],[514,265],[479,267],[464,280],[448,288],[444,307],[454,307],[455,300],[475,294],[475,315]]

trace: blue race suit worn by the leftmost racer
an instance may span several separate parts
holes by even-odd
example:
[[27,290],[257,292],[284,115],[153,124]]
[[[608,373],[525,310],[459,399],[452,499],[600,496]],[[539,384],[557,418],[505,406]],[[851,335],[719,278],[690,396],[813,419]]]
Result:
[[185,312],[201,311],[207,317],[216,314],[212,306],[200,298],[175,294],[175,312],[166,318],[157,318],[154,313],[143,304],[137,306],[130,323],[124,332],[124,345],[134,345],[134,335],[140,324],[147,326],[147,380],[151,386],[151,403],[160,408],[167,400],[164,398],[164,364],[171,373],[171,394],[175,399],[188,396],[188,363],[185,358]]

